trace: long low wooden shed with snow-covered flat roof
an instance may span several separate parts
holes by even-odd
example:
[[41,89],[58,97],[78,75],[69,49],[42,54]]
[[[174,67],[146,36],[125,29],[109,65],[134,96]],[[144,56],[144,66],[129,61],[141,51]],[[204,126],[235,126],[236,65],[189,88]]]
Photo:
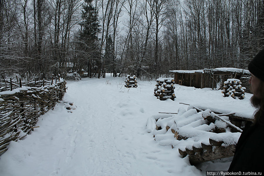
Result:
[[169,72],[174,73],[175,83],[177,84],[212,89],[216,88],[217,84],[220,88],[223,87],[223,82],[228,78],[240,79],[242,76],[250,76],[248,70],[238,68],[205,68],[203,70],[172,70]]

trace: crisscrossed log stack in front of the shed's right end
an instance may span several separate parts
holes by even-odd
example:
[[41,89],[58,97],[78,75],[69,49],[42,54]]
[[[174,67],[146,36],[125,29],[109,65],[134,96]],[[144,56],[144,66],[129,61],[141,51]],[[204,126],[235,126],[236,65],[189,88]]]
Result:
[[245,90],[243,90],[239,79],[228,79],[225,81],[222,93],[225,97],[231,96],[239,99],[245,98]]

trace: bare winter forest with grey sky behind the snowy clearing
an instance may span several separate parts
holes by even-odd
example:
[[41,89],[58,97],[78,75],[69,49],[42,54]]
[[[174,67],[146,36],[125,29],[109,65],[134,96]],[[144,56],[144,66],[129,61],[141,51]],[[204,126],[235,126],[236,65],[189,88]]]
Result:
[[264,0],[0,0],[0,74],[247,68]]

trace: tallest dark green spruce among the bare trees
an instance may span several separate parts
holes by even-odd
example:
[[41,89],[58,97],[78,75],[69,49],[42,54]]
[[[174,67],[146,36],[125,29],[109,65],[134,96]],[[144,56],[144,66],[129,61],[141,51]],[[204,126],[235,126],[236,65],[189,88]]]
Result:
[[80,24],[80,58],[82,58],[84,67],[87,65],[89,76],[91,77],[92,73],[98,73],[98,78],[100,78],[101,53],[98,38],[100,25],[98,10],[93,5],[93,0],[84,1],[82,17],[83,22]]

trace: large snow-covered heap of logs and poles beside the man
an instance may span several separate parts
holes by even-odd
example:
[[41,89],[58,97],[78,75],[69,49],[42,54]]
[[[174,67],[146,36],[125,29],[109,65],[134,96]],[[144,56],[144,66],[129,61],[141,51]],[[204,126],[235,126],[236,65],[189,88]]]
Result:
[[[178,148],[181,157],[189,155],[192,165],[233,156],[242,130],[230,123],[230,114],[197,111],[189,106],[187,111],[180,108],[177,115],[152,116],[147,132],[152,132],[160,145]],[[233,129],[240,132],[232,133]]]

